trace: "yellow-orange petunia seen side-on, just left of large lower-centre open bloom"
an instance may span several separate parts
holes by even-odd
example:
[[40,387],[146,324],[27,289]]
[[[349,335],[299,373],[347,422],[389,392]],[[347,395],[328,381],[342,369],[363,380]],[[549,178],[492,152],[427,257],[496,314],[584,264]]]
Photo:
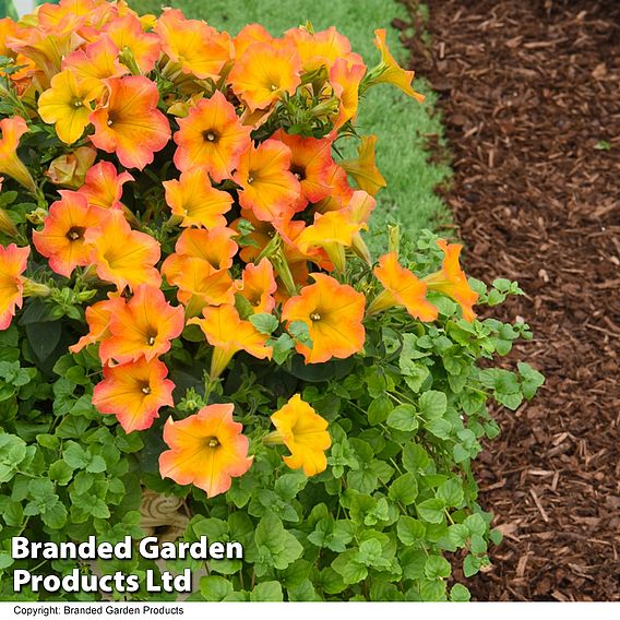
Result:
[[190,319],[188,324],[199,325],[208,344],[215,347],[211,359],[212,379],[219,377],[240,350],[259,359],[271,359],[272,347],[266,346],[267,336],[250,321],[242,321],[234,306],[205,308],[202,319]]

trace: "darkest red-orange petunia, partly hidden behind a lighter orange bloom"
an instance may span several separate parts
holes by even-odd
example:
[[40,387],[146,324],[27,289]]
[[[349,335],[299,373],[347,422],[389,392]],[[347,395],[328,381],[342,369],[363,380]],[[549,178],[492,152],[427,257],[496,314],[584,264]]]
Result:
[[319,202],[330,195],[332,190],[330,176],[334,167],[332,141],[327,138],[302,138],[289,135],[282,129],[273,138],[284,142],[290,148],[290,171],[301,187],[301,196],[296,211],[302,210],[308,202]]

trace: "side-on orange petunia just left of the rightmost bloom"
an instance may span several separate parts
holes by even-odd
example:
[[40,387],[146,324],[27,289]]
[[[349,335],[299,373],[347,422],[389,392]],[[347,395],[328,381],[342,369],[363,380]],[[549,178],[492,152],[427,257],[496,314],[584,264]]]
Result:
[[426,283],[398,264],[396,252],[381,257],[379,266],[374,267],[373,273],[385,290],[374,298],[368,308],[368,314],[404,306],[414,319],[427,322],[437,319],[438,310],[426,297]]

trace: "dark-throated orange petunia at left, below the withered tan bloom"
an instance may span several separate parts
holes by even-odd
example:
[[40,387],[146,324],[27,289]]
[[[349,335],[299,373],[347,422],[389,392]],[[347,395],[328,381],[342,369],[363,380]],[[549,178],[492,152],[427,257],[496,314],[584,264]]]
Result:
[[102,223],[102,212],[88,206],[86,198],[78,192],[60,191],[61,200],[49,207],[43,230],[33,231],[33,242],[49,259],[56,273],[70,277],[76,266],[91,264],[92,249],[84,234]]

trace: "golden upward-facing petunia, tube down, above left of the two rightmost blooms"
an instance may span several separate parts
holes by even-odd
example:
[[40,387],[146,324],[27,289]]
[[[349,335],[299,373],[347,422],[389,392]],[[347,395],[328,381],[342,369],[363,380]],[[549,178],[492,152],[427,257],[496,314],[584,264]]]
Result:
[[303,254],[312,249],[323,248],[337,271],[346,266],[345,248],[353,245],[354,235],[362,224],[351,222],[344,211],[330,211],[324,215],[314,214],[314,224],[308,226],[297,238],[297,247]]

